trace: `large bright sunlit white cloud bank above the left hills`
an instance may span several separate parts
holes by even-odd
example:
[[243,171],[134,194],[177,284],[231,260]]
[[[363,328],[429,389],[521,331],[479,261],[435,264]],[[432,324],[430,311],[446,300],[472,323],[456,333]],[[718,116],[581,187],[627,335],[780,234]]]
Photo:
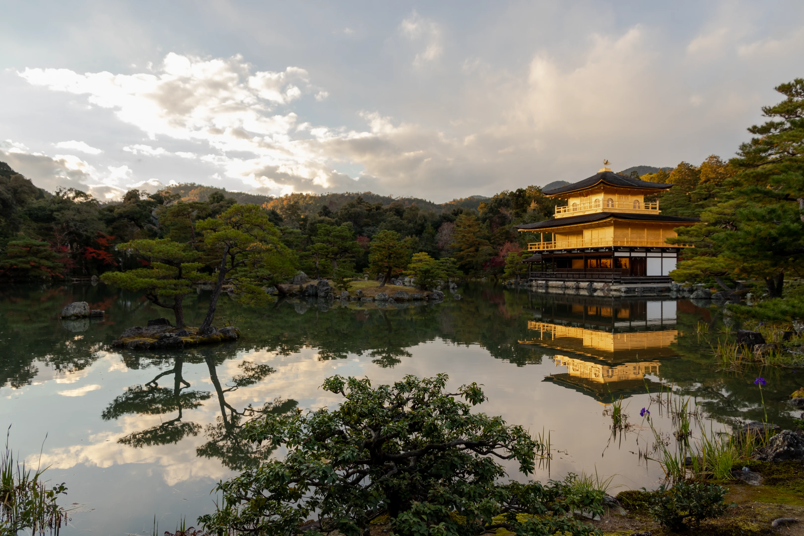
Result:
[[[207,145],[213,152],[201,157],[202,162],[255,190],[322,191],[343,182],[322,146],[322,139],[332,135],[330,129],[319,129],[320,136],[311,139],[304,129],[297,130],[297,114],[288,108],[306,93],[314,93],[317,100],[328,96],[310,85],[302,68],[252,73],[239,55],[199,59],[171,52],[154,74],[27,68],[19,76],[53,91],[88,95],[88,102],[114,109],[121,121],[152,139],[165,136]],[[123,150],[151,157],[171,154],[143,144],[125,145]],[[191,151],[174,154],[197,158]],[[130,182],[133,170],[125,170],[125,176],[113,171],[105,185]]]

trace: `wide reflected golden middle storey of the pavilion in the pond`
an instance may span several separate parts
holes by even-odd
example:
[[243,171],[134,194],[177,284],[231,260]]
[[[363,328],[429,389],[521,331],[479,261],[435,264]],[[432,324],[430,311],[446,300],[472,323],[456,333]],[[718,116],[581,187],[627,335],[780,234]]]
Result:
[[669,346],[679,334],[675,329],[612,333],[539,321],[528,321],[527,328],[538,332],[538,336],[519,344],[548,346],[608,361],[671,357],[675,352]]

